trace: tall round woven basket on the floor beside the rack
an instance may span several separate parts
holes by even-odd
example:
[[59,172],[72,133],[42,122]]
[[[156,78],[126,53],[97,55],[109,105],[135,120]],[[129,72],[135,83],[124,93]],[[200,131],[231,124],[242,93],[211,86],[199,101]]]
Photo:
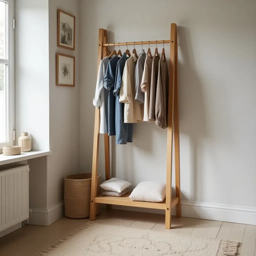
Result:
[[[79,173],[65,177],[64,206],[65,215],[69,218],[87,218],[90,216],[91,173]],[[97,178],[97,195],[100,194],[101,175]],[[96,204],[96,214],[100,207]]]

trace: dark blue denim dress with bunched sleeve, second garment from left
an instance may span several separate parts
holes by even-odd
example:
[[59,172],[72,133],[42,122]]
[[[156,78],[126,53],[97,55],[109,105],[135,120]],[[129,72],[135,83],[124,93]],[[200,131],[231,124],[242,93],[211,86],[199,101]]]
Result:
[[108,63],[105,78],[104,87],[109,90],[108,93],[108,125],[109,136],[115,135],[115,96],[113,94],[115,84],[115,74],[117,62],[121,58],[114,56]]

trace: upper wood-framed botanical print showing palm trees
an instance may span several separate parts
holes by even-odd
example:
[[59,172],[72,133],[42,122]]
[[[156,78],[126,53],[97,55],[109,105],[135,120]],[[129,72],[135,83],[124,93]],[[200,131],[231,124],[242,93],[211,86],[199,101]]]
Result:
[[75,49],[76,17],[58,9],[57,46],[69,50]]

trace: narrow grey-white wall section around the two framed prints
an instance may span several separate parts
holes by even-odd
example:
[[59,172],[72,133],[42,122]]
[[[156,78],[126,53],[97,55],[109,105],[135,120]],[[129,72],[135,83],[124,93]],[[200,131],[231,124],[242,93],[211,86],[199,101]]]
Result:
[[[49,1],[50,150],[47,157],[47,208],[63,201],[64,177],[79,173],[79,1]],[[76,16],[76,50],[57,47],[57,9]],[[56,86],[56,52],[75,56],[75,87]]]

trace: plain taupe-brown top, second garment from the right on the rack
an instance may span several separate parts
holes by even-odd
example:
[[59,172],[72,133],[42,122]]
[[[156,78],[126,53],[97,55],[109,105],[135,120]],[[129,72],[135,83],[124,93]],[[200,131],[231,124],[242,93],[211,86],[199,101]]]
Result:
[[157,87],[159,60],[160,60],[160,56],[154,56],[153,63],[152,63],[149,116],[148,116],[148,118],[151,121],[155,121],[155,101],[156,101],[156,87]]

